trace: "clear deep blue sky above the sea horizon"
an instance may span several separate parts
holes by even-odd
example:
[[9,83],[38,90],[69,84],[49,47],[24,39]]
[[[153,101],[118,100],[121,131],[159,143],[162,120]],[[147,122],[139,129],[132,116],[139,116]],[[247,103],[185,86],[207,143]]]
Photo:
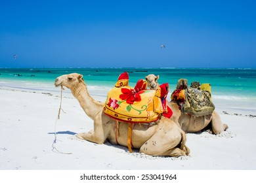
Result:
[[1,1],[0,67],[255,68],[255,8],[253,0]]

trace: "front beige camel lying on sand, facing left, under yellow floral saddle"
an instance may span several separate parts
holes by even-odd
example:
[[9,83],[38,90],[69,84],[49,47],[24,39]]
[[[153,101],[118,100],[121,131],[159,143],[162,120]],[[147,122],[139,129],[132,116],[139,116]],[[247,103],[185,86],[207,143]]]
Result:
[[[104,103],[95,101],[83,80],[83,75],[72,73],[56,78],[55,86],[66,87],[71,90],[79,101],[84,112],[94,122],[94,129],[88,133],[78,133],[77,138],[96,144],[111,144],[127,146],[127,133],[129,124],[119,122],[119,135],[116,136],[116,120],[104,113]],[[118,140],[118,141],[117,141]],[[140,153],[150,156],[186,156],[190,153],[185,145],[186,134],[173,120],[161,116],[158,123],[152,125],[135,124],[132,131],[132,143],[134,148],[139,148]]]

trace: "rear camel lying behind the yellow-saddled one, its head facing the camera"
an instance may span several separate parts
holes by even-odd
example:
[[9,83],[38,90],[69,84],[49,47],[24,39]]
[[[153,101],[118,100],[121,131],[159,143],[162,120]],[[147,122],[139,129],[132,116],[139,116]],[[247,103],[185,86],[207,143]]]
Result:
[[[148,75],[146,78],[150,78],[150,82],[148,82],[148,88],[151,89],[154,88],[154,86],[159,85],[159,76]],[[173,116],[171,116],[171,120],[179,125],[179,127],[181,127],[185,133],[196,133],[202,131],[206,127],[209,127],[209,125],[215,135],[218,135],[228,129],[228,125],[223,124],[221,117],[215,110],[213,110],[211,115],[192,116],[182,113],[177,103],[173,101],[168,101],[167,105],[171,108],[171,110],[173,110]]]

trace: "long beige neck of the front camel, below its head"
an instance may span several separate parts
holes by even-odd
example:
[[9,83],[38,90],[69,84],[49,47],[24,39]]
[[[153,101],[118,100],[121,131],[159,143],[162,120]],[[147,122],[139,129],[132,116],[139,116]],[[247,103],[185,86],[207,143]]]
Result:
[[102,111],[104,104],[99,101],[95,101],[89,94],[87,86],[84,82],[80,82],[72,88],[72,94],[79,101],[79,104],[91,119],[95,120],[95,115]]

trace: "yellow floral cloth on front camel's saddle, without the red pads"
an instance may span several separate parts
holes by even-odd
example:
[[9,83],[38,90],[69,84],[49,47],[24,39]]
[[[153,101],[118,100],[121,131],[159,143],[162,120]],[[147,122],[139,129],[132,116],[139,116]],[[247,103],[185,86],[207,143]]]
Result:
[[124,86],[108,92],[104,112],[121,122],[150,123],[158,120],[163,108],[156,90],[136,93],[133,88]]

